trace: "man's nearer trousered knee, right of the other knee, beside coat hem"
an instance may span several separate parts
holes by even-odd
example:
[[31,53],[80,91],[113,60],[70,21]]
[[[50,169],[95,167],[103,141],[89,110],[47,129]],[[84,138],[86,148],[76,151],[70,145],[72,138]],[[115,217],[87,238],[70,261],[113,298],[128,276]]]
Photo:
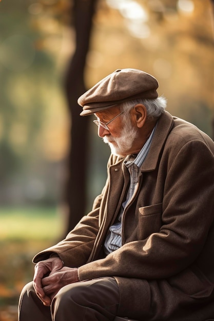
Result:
[[71,313],[72,319],[84,319],[86,310],[94,319],[99,320],[103,315],[108,316],[106,320],[112,319],[118,310],[118,302],[119,289],[112,278],[73,283],[63,287],[53,298],[52,319],[66,320]]

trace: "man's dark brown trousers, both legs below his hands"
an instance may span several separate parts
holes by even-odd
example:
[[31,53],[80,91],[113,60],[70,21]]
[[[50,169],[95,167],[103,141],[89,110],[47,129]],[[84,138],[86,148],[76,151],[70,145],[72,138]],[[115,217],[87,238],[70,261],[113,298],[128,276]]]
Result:
[[19,321],[109,321],[118,312],[119,288],[113,277],[63,287],[46,307],[28,283],[20,295]]

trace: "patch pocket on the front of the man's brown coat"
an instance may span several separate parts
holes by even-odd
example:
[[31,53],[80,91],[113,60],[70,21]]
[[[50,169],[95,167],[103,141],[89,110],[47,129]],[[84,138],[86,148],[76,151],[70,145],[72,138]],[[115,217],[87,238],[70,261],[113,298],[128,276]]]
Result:
[[162,203],[139,208],[139,239],[158,233],[162,226]]

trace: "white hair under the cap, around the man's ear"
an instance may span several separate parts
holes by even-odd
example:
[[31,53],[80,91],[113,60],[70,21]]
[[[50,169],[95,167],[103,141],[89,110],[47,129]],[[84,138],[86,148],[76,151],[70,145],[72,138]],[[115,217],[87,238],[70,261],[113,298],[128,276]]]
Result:
[[143,104],[147,110],[147,117],[159,118],[161,114],[165,111],[167,102],[164,96],[154,98],[154,99],[133,99],[132,101],[127,101],[121,104],[121,111],[124,111],[124,118],[127,117],[129,111],[137,104]]

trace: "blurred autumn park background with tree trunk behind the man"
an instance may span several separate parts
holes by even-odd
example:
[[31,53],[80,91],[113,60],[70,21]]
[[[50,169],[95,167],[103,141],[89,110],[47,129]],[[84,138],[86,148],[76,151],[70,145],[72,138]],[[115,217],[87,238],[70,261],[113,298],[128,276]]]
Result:
[[[76,99],[118,68],[214,136],[211,0],[0,0],[0,321],[32,257],[90,211],[109,148]],[[83,160],[81,160],[83,159]]]

